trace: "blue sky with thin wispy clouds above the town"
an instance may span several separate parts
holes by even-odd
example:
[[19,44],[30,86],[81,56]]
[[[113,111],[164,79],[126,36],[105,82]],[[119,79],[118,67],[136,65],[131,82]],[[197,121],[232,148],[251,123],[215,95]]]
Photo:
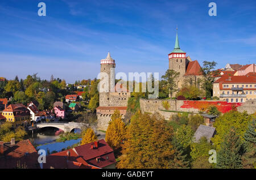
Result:
[[[47,16],[38,16],[38,3]],[[209,16],[208,4],[217,4]],[[38,72],[75,80],[95,78],[108,51],[116,72],[168,68],[176,25],[192,60],[256,63],[256,1],[0,1],[0,76]]]

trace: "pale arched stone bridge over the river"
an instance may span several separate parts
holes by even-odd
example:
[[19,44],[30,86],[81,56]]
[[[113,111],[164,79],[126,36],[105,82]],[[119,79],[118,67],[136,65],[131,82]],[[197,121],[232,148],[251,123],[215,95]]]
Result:
[[43,127],[56,127],[64,132],[71,132],[74,128],[82,127],[89,127],[89,124],[86,123],[77,123],[77,122],[48,122],[48,123],[38,123],[36,127],[43,128]]

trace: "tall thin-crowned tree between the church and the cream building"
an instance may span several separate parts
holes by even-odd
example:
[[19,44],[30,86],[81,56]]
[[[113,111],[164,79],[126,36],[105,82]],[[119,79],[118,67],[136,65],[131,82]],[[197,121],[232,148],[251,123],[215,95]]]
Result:
[[203,67],[201,68],[201,71],[203,72],[203,75],[204,75],[202,88],[205,90],[205,97],[207,98],[212,97],[214,75],[217,75],[217,71],[213,71],[213,70],[216,65],[217,63],[214,61],[212,62],[204,61]]

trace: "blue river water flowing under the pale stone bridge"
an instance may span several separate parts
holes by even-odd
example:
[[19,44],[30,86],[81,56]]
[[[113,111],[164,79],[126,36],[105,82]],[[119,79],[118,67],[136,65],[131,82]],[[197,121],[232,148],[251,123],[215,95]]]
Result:
[[[67,148],[73,144],[79,143],[81,138],[67,140],[65,142],[56,142],[56,139],[60,137],[60,133],[63,132],[53,127],[45,127],[38,131],[29,131],[26,138],[30,139],[31,143],[36,146],[36,150],[44,149],[46,152],[57,151],[60,152],[62,149]],[[75,130],[75,133],[79,133],[80,130]],[[98,139],[105,139],[105,134],[100,132]]]

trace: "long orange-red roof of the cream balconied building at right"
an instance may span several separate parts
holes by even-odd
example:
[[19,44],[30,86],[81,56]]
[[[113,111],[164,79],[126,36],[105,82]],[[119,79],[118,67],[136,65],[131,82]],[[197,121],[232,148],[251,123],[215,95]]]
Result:
[[222,76],[214,83],[256,83],[255,76]]

